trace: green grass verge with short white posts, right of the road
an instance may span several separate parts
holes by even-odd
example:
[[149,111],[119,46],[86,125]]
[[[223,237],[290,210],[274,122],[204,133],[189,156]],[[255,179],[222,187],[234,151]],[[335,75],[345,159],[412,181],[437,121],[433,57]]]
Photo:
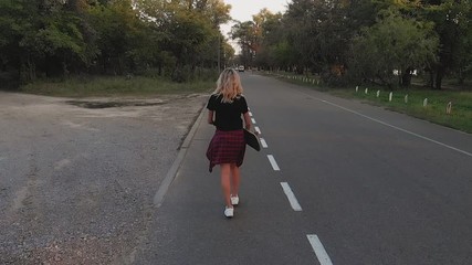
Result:
[[[334,89],[322,84],[318,85],[316,84],[316,77],[312,77],[315,80],[315,84],[311,81],[304,82],[300,76],[295,80],[293,77],[286,78],[286,75],[279,76],[279,78],[327,92],[335,96],[356,98],[368,104],[382,106],[387,109],[472,134],[472,92],[470,91],[397,89],[392,92],[392,100],[390,102],[390,91],[381,88],[369,88],[368,94],[365,94],[366,86],[359,87],[356,93],[356,86]],[[377,97],[378,89],[380,89],[379,97]],[[408,95],[407,103],[405,102],[406,95]],[[423,107],[424,98],[428,98],[426,107]],[[451,114],[445,113],[449,102],[452,103]]]

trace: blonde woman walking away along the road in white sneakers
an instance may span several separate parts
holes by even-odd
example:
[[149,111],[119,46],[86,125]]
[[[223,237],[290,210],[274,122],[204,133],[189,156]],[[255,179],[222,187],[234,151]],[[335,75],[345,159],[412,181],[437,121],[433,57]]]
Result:
[[[207,150],[210,172],[220,165],[221,189],[224,197],[224,216],[232,218],[233,205],[239,203],[240,167],[244,159],[245,129],[251,129],[248,103],[242,95],[239,74],[233,68],[225,68],[218,78],[217,89],[208,100],[208,123],[217,130]],[[243,120],[242,118],[243,117]]]

